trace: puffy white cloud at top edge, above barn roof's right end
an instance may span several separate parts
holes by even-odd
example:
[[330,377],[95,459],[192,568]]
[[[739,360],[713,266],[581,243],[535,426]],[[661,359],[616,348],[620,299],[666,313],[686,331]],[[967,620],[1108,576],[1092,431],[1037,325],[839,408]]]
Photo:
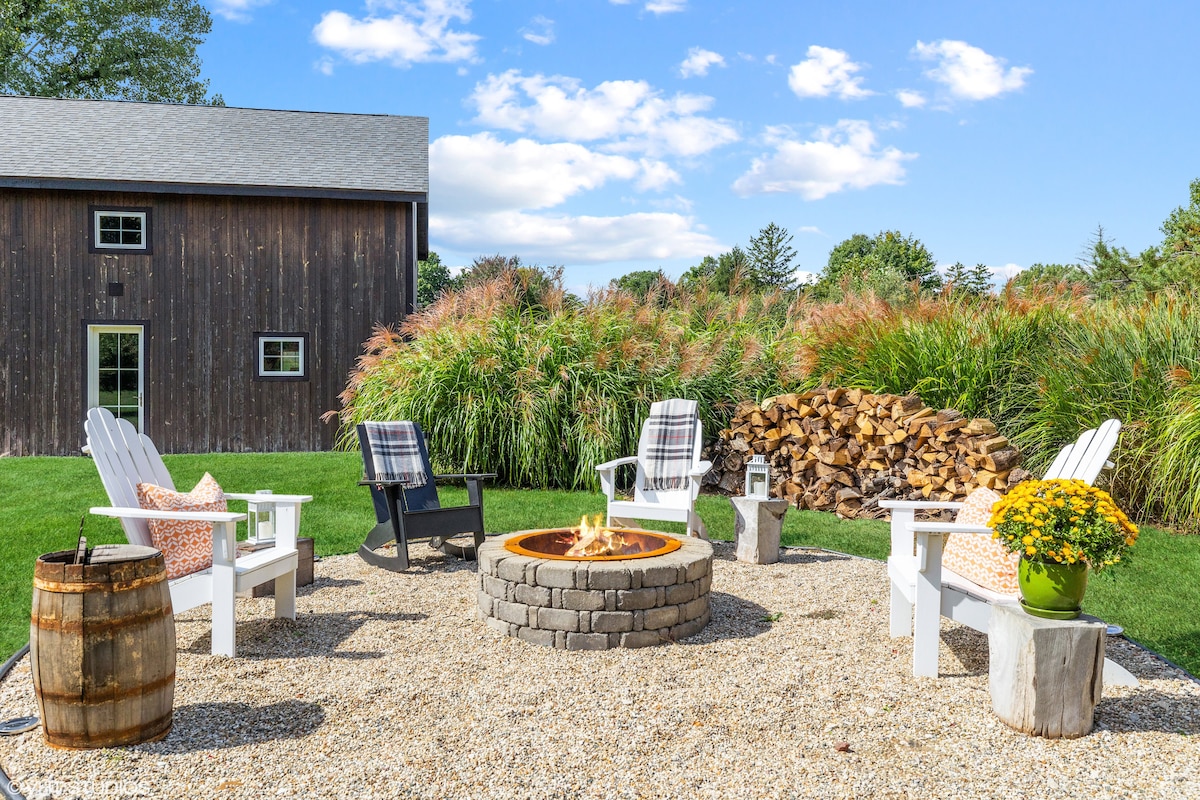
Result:
[[[356,19],[342,11],[326,12],[312,29],[317,43],[352,61],[391,61],[408,66],[425,61],[472,61],[479,36],[452,30],[470,22],[469,0],[368,2],[367,16]],[[389,17],[376,10],[394,11]]]

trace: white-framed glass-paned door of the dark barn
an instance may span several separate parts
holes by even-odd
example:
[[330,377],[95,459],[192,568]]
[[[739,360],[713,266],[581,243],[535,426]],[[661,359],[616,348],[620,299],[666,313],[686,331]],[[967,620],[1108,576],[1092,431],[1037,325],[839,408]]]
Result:
[[107,408],[142,432],[142,325],[88,326],[88,408]]

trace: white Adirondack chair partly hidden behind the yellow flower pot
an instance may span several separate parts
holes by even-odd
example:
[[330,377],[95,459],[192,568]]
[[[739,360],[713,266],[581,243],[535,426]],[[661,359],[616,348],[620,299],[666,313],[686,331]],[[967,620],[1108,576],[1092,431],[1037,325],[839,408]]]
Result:
[[[1118,420],[1108,420],[1099,428],[1085,431],[1074,444],[1060,451],[1045,477],[1078,479],[1092,483],[1100,470],[1112,465],[1108,458],[1120,432]],[[960,509],[961,503],[883,500],[880,506],[892,510],[892,554],[888,557],[890,633],[893,637],[912,636],[913,674],[936,678],[940,616],[986,633],[992,606],[1015,603],[1018,599],[985,589],[942,566],[944,534],[990,536],[990,528],[914,519],[917,511]],[[1108,684],[1138,685],[1133,675],[1108,660],[1104,680]]]

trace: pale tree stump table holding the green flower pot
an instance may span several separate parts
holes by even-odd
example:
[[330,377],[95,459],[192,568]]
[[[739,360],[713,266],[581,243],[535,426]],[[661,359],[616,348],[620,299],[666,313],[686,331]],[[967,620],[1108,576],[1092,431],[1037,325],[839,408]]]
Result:
[[1046,739],[1092,729],[1104,685],[1105,625],[1042,619],[996,604],[988,627],[991,708],[1012,728]]

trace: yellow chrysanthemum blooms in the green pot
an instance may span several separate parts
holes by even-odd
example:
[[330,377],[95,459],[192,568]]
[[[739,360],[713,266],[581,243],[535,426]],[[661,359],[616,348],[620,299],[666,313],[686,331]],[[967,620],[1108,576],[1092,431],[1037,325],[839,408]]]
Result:
[[1138,525],[1108,492],[1068,479],[1019,483],[992,507],[988,525],[1024,559],[1086,563],[1096,572],[1121,563],[1138,541]]

